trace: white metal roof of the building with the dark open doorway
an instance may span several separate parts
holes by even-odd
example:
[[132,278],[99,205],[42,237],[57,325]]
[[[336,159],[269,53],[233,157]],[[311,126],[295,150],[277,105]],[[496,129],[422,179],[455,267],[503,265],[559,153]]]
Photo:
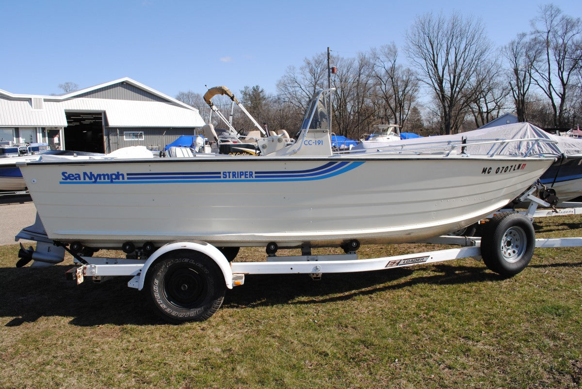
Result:
[[[112,94],[113,87],[131,87],[126,94],[143,96],[124,99]],[[104,112],[109,127],[204,126],[198,109],[128,77],[61,96],[0,90],[0,127],[66,127],[65,112]]]

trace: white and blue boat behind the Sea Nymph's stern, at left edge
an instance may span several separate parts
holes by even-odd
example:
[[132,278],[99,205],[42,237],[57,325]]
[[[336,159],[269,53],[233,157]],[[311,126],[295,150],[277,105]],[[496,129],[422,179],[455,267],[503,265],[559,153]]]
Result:
[[70,150],[47,150],[39,154],[15,156],[12,158],[0,159],[0,191],[23,191],[26,190],[26,183],[17,166],[20,163],[34,162],[39,160],[51,160],[54,157],[61,159],[96,159],[96,158],[151,158],[153,155],[145,146],[130,146],[120,148],[110,154],[100,154],[86,151]]

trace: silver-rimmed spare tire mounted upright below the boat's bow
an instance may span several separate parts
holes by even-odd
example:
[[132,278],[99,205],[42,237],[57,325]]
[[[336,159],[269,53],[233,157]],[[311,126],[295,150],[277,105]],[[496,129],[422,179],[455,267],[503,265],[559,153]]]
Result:
[[530,263],[535,248],[534,227],[524,215],[502,212],[485,223],[481,256],[495,273],[513,276]]

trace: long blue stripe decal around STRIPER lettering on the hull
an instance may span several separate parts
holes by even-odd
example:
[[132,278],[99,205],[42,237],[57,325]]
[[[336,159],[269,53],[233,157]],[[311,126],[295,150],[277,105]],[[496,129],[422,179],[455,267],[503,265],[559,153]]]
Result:
[[[361,162],[331,162],[326,163],[315,169],[309,170],[296,170],[294,172],[261,172],[263,176],[248,179],[222,179],[221,175],[215,176],[215,173],[221,172],[204,172],[197,174],[206,174],[206,176],[191,176],[190,173],[144,173],[146,177],[137,177],[142,173],[126,173],[127,180],[102,180],[102,181],[59,181],[59,184],[63,185],[81,185],[81,184],[168,184],[168,183],[266,183],[266,182],[283,182],[283,181],[314,181],[314,180],[324,180],[330,177],[339,176],[345,172],[356,169],[356,167],[362,165],[365,161]],[[330,167],[331,166],[331,167]],[[312,172],[310,174],[297,174]],[[266,174],[266,173],[280,173],[280,174]],[[130,179],[129,175],[132,175]],[[151,174],[151,177],[147,177]],[[176,176],[180,174],[180,176]]]

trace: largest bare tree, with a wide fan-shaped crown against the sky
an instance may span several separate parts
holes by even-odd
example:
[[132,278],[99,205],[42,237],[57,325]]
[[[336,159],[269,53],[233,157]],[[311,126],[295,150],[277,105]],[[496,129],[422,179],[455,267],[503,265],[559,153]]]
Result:
[[473,17],[427,13],[417,17],[406,42],[411,63],[426,77],[421,81],[437,98],[442,131],[456,131],[480,90],[475,77],[480,62],[491,54],[484,27]]

